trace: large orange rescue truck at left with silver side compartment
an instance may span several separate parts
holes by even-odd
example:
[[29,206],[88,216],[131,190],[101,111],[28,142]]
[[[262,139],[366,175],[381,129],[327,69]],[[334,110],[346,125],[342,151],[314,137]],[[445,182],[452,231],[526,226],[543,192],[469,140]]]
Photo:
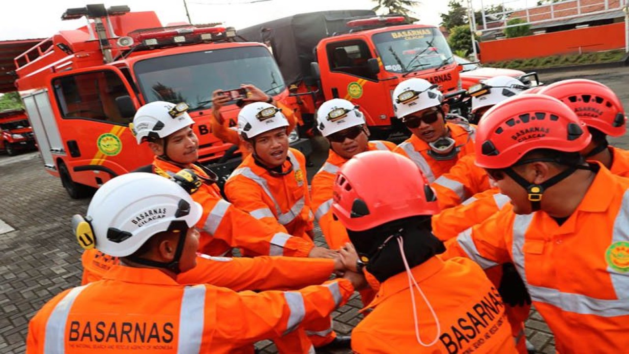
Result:
[[[209,132],[211,94],[253,84],[298,113],[269,49],[236,43],[233,28],[164,27],[152,11],[102,4],[67,9],[63,20],[87,18],[19,55],[16,87],[24,101],[48,173],[74,198],[152,161],[128,124],[150,101],[185,101],[199,136],[199,161],[227,176],[239,163],[237,147]],[[235,125],[235,102],[221,114]],[[308,140],[291,134],[309,154]]]

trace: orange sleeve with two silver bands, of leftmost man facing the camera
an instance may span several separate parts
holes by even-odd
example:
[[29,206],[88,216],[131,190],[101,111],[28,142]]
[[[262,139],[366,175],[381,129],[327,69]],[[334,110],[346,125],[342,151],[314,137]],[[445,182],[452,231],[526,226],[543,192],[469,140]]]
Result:
[[307,257],[315,246],[312,241],[286,234],[283,227],[260,222],[220,197],[199,190],[192,199],[203,206],[203,216],[197,226],[231,247],[244,248],[261,256]]

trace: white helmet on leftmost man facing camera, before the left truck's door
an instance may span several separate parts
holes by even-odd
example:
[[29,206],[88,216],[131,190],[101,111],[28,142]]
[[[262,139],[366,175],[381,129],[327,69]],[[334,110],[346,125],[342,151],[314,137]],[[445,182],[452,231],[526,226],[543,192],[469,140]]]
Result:
[[183,102],[177,105],[165,101],[147,103],[136,111],[129,127],[138,144],[145,138],[164,138],[194,124],[187,109],[188,105]]

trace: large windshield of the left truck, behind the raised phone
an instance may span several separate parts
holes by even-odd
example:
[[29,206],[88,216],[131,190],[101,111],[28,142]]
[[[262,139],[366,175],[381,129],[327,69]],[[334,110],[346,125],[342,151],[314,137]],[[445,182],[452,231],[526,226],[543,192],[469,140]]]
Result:
[[186,102],[191,110],[209,108],[212,92],[253,84],[270,96],[284,91],[277,64],[265,47],[238,47],[168,55],[135,64],[147,102]]

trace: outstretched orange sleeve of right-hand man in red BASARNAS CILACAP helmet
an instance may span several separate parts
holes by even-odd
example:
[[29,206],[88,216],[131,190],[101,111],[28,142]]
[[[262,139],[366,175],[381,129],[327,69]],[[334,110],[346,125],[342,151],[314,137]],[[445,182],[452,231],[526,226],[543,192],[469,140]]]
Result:
[[503,208],[482,224],[471,227],[459,236],[445,242],[444,260],[465,257],[476,261],[483,269],[511,261],[505,234],[511,234],[515,214],[511,208]]

